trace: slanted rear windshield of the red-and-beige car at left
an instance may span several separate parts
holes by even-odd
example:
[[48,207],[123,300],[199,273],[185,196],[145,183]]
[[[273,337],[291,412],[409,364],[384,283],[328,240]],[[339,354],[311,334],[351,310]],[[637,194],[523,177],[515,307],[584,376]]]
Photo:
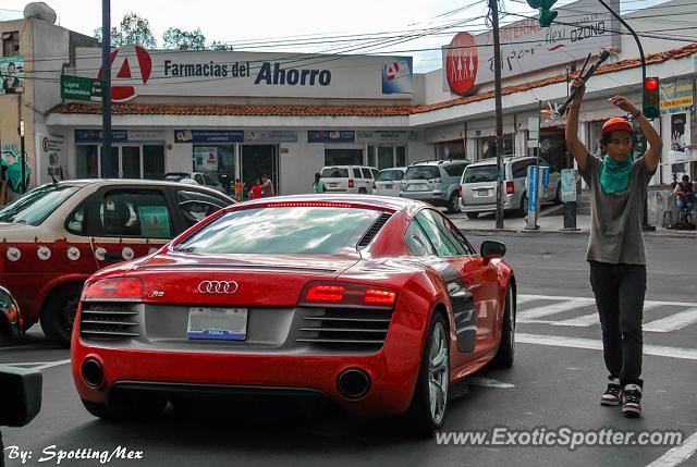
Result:
[[0,211],[0,222],[39,225],[80,188],[80,186],[57,184],[34,188],[2,209]]

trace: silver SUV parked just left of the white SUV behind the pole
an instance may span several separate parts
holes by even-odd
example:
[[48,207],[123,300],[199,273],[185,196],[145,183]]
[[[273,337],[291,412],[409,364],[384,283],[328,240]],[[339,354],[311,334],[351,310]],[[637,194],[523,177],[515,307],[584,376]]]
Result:
[[443,206],[448,212],[460,212],[460,180],[470,163],[466,159],[414,162],[404,173],[400,196]]

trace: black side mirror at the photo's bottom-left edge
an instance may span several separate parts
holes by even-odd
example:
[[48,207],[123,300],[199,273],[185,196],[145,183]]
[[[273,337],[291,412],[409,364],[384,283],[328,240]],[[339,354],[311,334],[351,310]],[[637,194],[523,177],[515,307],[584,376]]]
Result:
[[41,385],[40,371],[0,365],[0,426],[32,421],[41,409]]

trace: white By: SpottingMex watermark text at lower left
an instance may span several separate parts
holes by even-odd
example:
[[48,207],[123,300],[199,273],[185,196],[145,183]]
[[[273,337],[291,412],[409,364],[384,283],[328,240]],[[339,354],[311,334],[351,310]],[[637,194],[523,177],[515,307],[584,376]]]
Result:
[[46,446],[38,456],[33,451],[21,450],[20,446],[8,446],[4,448],[5,458],[10,460],[19,460],[26,464],[29,460],[50,465],[60,465],[61,463],[74,465],[75,460],[93,460],[99,464],[109,464],[112,460],[137,460],[143,459],[143,451],[130,450],[121,445],[113,450],[93,450],[91,447],[82,447],[76,450],[59,448],[56,444]]

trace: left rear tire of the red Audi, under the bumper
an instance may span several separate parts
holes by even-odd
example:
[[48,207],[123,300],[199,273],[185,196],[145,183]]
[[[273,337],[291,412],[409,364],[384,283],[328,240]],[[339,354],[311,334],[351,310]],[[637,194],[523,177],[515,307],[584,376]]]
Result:
[[82,400],[85,409],[102,420],[127,421],[155,418],[164,410],[168,401],[158,394],[126,393],[115,403],[98,404]]

